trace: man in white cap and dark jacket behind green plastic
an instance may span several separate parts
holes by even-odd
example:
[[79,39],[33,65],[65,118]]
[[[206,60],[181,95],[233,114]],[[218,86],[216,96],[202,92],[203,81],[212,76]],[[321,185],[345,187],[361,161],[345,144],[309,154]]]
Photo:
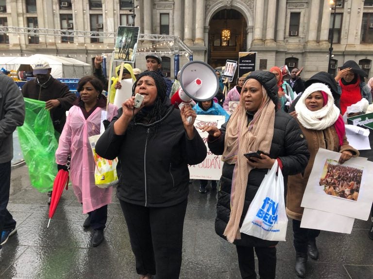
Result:
[[[32,65],[35,79],[29,80],[22,87],[23,97],[45,102],[45,109],[51,113],[54,130],[62,133],[66,122],[66,111],[72,106],[76,96],[66,84],[51,76],[48,62],[39,60]],[[48,192],[48,204],[51,203],[51,191]]]

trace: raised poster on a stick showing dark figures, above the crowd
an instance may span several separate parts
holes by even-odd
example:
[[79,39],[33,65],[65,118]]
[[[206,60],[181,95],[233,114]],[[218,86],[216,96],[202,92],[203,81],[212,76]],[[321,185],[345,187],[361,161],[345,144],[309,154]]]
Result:
[[134,63],[140,28],[136,26],[119,26],[115,41],[114,60]]

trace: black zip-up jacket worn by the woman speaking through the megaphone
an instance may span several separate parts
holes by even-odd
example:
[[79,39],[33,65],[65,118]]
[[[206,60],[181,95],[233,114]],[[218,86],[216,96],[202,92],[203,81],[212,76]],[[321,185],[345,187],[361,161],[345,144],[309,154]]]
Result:
[[[166,108],[169,107],[170,104]],[[119,158],[119,200],[149,207],[185,201],[189,193],[188,164],[199,164],[207,155],[197,130],[194,138],[188,140],[180,110],[174,109],[156,134],[151,128],[130,125],[124,135],[118,136],[114,134],[114,123],[121,114],[119,109],[96,144],[98,155]]]

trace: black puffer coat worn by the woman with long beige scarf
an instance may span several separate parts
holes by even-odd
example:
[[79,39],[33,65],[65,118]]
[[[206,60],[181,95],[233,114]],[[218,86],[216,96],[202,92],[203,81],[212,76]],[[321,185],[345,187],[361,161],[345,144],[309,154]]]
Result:
[[[226,124],[220,128],[221,136],[218,140],[208,141],[210,151],[216,155],[221,155],[224,151],[224,136]],[[209,140],[212,140],[209,138]],[[274,120],[273,140],[271,144],[270,157],[273,159],[280,158],[283,169],[285,181],[288,175],[300,173],[305,170],[308,163],[309,152],[307,149],[307,142],[297,122],[287,113],[283,111],[276,111]],[[223,235],[225,227],[229,221],[230,215],[230,199],[232,187],[232,175],[235,165],[223,164],[222,174],[220,178],[220,191],[218,194],[217,203],[217,217],[215,220],[215,231],[222,238],[226,239]],[[245,202],[240,220],[240,227],[246,212],[249,209],[250,203],[253,201],[256,191],[264,176],[267,174],[268,169],[253,169],[249,173]],[[286,183],[284,183],[286,185]],[[235,240],[234,244],[238,246],[260,246],[269,247],[276,245],[277,241],[268,241],[241,233],[241,239]]]

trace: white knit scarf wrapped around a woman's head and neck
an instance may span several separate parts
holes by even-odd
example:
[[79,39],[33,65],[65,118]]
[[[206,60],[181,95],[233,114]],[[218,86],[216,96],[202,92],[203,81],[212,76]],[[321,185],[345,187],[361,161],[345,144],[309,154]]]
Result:
[[[307,96],[323,91],[328,95],[328,102],[322,109],[311,111],[305,106]],[[323,130],[336,123],[339,117],[339,109],[334,105],[334,98],[330,89],[323,83],[313,83],[305,89],[295,105],[298,121],[306,128],[312,130]]]

